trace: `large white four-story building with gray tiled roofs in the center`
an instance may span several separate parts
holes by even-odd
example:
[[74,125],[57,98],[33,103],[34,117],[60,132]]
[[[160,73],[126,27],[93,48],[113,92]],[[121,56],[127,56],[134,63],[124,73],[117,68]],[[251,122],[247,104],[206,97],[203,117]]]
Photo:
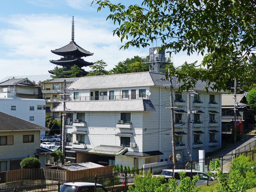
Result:
[[[191,121],[187,131],[187,93],[178,92],[173,79],[175,144],[180,161],[198,150],[215,151],[221,146],[221,93],[203,89],[190,98]],[[170,87],[165,74],[140,72],[80,77],[67,88],[67,161],[102,165],[169,162],[172,155]],[[61,103],[54,111],[63,111]],[[188,143],[190,138],[190,143]]]

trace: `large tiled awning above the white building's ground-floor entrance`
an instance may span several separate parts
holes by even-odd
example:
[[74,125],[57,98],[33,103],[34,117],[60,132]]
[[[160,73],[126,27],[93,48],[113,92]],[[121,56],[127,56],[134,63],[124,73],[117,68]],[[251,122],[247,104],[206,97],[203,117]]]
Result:
[[94,147],[89,153],[105,154],[105,155],[120,155],[127,150],[126,147],[100,145]]

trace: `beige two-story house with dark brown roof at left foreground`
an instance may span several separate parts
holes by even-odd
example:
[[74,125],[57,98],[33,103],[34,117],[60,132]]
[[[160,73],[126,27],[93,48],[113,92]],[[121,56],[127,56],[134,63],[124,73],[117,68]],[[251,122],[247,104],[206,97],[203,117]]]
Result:
[[36,157],[45,167],[45,154],[40,149],[40,132],[48,128],[0,112],[0,172],[20,169],[26,157]]

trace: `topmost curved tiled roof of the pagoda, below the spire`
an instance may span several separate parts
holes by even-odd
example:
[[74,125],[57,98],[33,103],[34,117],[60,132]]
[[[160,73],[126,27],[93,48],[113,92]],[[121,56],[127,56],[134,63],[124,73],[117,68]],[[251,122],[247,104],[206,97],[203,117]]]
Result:
[[59,49],[51,50],[52,53],[60,56],[65,56],[67,52],[77,52],[81,57],[87,57],[93,55],[93,53],[83,49],[76,42],[71,41],[68,45]]

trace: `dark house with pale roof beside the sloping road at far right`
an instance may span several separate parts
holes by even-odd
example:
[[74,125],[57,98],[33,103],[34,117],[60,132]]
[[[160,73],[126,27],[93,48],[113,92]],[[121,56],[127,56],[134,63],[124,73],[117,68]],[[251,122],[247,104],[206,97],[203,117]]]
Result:
[[[221,98],[222,134],[228,136],[232,134],[234,128],[235,98],[233,94],[221,95]],[[246,133],[253,129],[255,123],[254,115],[244,94],[237,94],[236,120],[236,128],[239,133]],[[227,138],[226,136],[225,138]]]

